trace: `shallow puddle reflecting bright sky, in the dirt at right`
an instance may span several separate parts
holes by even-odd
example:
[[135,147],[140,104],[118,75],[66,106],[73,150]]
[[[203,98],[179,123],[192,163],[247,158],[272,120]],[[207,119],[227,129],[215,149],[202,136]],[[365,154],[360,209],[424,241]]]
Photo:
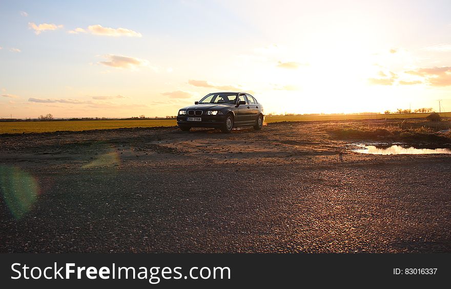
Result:
[[373,155],[419,155],[419,154],[451,154],[451,149],[416,149],[398,144],[359,144],[360,149],[354,150],[361,154]]

